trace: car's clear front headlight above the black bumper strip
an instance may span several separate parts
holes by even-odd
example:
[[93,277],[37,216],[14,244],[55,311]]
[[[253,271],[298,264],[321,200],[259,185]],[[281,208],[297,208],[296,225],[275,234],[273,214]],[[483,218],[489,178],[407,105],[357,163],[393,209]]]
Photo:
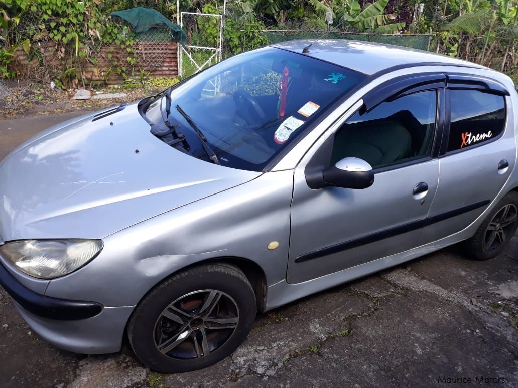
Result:
[[82,267],[101,249],[102,240],[21,240],[0,246],[0,256],[27,275],[53,279]]

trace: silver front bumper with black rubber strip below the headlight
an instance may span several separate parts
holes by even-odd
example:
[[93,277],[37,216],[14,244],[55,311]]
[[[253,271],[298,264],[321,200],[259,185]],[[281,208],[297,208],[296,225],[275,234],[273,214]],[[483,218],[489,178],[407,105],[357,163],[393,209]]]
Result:
[[38,294],[23,286],[0,263],[0,285],[31,329],[50,344],[83,354],[118,352],[135,306],[103,307]]

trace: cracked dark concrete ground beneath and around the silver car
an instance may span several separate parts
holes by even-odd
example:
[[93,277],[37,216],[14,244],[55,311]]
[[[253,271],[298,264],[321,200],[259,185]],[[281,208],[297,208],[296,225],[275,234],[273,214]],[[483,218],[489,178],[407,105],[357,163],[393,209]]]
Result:
[[[0,121],[0,159],[73,115]],[[517,340],[516,236],[489,261],[452,247],[258,315],[231,357],[178,375],[150,372],[127,341],[102,356],[56,349],[0,289],[2,387],[516,387]]]

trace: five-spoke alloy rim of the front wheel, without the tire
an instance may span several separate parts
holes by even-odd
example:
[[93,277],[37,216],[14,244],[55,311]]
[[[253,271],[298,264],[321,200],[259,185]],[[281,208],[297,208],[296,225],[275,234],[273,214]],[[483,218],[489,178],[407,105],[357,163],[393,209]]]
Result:
[[206,357],[225,344],[238,323],[239,309],[228,294],[190,292],[169,304],[156,320],[155,346],[174,359]]

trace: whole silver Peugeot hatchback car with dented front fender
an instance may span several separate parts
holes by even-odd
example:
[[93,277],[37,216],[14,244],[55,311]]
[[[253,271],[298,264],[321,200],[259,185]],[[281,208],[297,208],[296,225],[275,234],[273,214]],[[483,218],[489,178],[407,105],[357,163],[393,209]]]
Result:
[[0,164],[0,283],[42,338],[203,368],[256,311],[517,227],[518,94],[499,72],[289,41],[84,115]]

